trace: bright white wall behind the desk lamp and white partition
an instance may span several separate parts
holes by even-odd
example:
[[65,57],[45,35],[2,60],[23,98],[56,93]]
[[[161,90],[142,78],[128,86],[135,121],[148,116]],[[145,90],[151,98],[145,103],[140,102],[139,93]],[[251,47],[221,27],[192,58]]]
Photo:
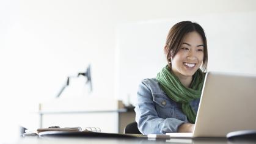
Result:
[[11,112],[33,111],[37,102],[54,98],[65,78],[89,63],[93,95],[114,97],[115,29],[120,24],[250,12],[255,5],[253,0],[0,1],[0,108],[9,115],[5,122],[13,119]]

